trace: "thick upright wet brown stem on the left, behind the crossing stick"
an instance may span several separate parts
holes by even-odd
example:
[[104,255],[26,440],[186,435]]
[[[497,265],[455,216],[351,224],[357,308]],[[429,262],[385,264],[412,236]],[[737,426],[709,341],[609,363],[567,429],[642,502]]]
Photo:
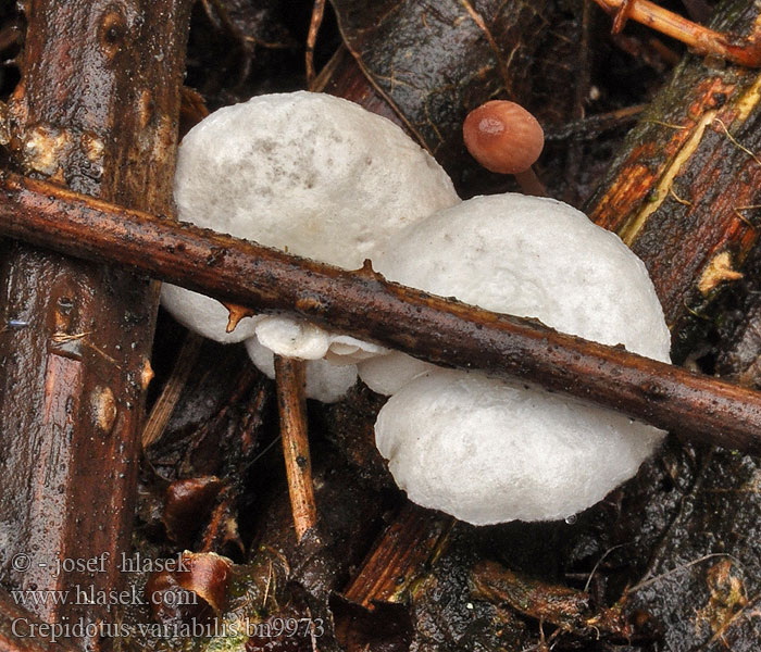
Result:
[[[171,214],[188,0],[30,0],[11,158],[27,174]],[[110,266],[8,242],[0,266],[0,540],[34,563],[9,586],[123,584],[157,288]],[[110,554],[103,573],[58,559]],[[49,620],[113,622],[48,603]],[[97,641],[91,641],[96,644]]]

